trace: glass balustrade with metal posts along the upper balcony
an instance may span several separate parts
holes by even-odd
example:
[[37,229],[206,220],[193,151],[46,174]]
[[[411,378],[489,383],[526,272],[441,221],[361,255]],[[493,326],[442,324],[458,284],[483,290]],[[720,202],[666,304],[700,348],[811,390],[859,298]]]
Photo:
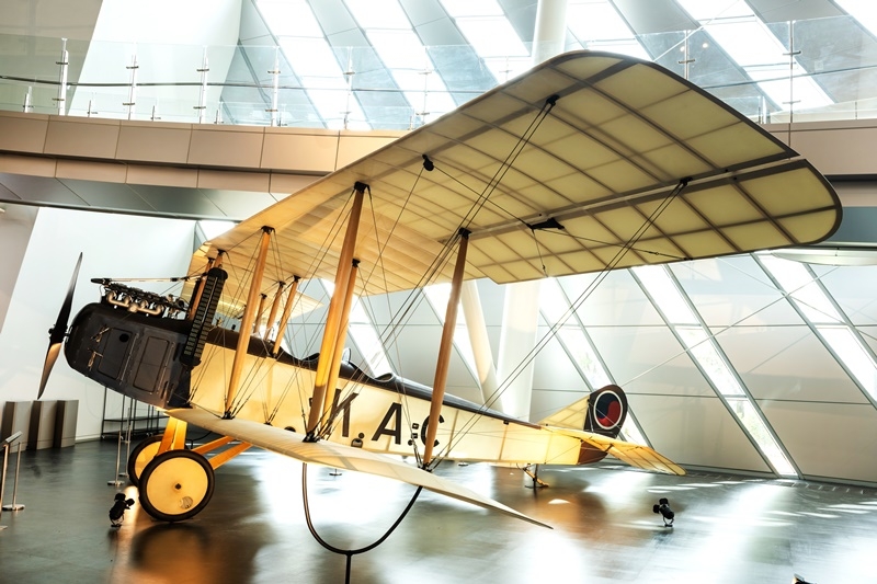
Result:
[[[799,23],[789,23],[794,26]],[[710,60],[711,47],[690,50],[692,35],[639,38],[643,46],[671,47],[656,55],[656,61],[759,123],[877,117],[877,83],[872,82],[877,58],[872,64],[863,57],[856,67],[805,71],[804,36],[796,50],[765,56],[773,64],[765,68],[773,73],[753,80],[727,57]],[[812,45],[812,35],[809,39]],[[284,50],[0,35],[0,110],[195,124],[411,129],[528,66],[527,57],[483,59],[468,46],[442,46],[424,47],[421,70],[402,71],[384,67],[371,47],[348,47],[333,49],[337,75],[315,77],[297,75]],[[787,65],[779,67],[783,59]],[[433,82],[438,79],[442,83]],[[793,96],[805,80],[827,88],[829,95],[830,88],[842,84],[844,94],[856,99],[804,108]],[[851,83],[858,83],[857,90]],[[788,99],[771,99],[764,91],[768,84],[787,85]]]

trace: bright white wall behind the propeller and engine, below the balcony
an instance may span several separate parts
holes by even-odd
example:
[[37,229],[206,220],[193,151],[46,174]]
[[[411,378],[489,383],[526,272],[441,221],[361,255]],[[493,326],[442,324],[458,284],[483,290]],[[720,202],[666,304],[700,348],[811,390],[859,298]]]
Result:
[[[90,282],[93,277],[184,275],[194,225],[190,220],[39,208],[0,332],[0,402],[36,399],[47,331],[55,323],[80,252],[83,257],[72,314],[99,300],[100,288]],[[0,221],[0,240],[10,229]],[[132,285],[179,294],[179,285]],[[79,400],[77,439],[100,435],[104,389],[72,371],[64,357],[56,363],[43,399]]]

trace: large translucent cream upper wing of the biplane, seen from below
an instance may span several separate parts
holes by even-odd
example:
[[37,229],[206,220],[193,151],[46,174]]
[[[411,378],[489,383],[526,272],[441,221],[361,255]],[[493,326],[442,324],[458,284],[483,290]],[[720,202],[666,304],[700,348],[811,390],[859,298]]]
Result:
[[[218,250],[248,265],[266,226],[278,252],[269,274],[331,279],[357,181],[371,194],[355,257],[362,273],[383,272],[360,295],[422,286],[462,227],[466,277],[498,283],[812,243],[836,229],[841,206],[797,156],[656,64],[574,51],[257,214],[193,267]],[[431,282],[452,272],[440,266]],[[246,296],[236,286],[247,276],[226,286]]]

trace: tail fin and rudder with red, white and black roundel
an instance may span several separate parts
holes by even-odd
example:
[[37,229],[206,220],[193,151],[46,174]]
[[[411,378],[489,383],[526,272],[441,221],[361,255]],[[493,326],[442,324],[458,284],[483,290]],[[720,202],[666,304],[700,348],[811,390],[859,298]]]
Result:
[[627,417],[627,396],[618,386],[606,386],[549,415],[540,425],[584,430],[615,438]]

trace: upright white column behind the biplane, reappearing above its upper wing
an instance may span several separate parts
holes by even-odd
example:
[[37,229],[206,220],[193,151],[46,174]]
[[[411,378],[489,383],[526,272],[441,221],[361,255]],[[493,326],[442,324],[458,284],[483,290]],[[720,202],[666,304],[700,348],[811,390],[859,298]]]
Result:
[[[533,65],[563,50],[567,37],[567,0],[539,0],[533,35]],[[502,341],[498,363],[499,382],[504,387],[500,399],[503,413],[529,420],[533,392],[533,363],[519,366],[536,346],[539,317],[539,280],[510,284],[505,287],[502,314]],[[512,376],[514,379],[511,379]]]

